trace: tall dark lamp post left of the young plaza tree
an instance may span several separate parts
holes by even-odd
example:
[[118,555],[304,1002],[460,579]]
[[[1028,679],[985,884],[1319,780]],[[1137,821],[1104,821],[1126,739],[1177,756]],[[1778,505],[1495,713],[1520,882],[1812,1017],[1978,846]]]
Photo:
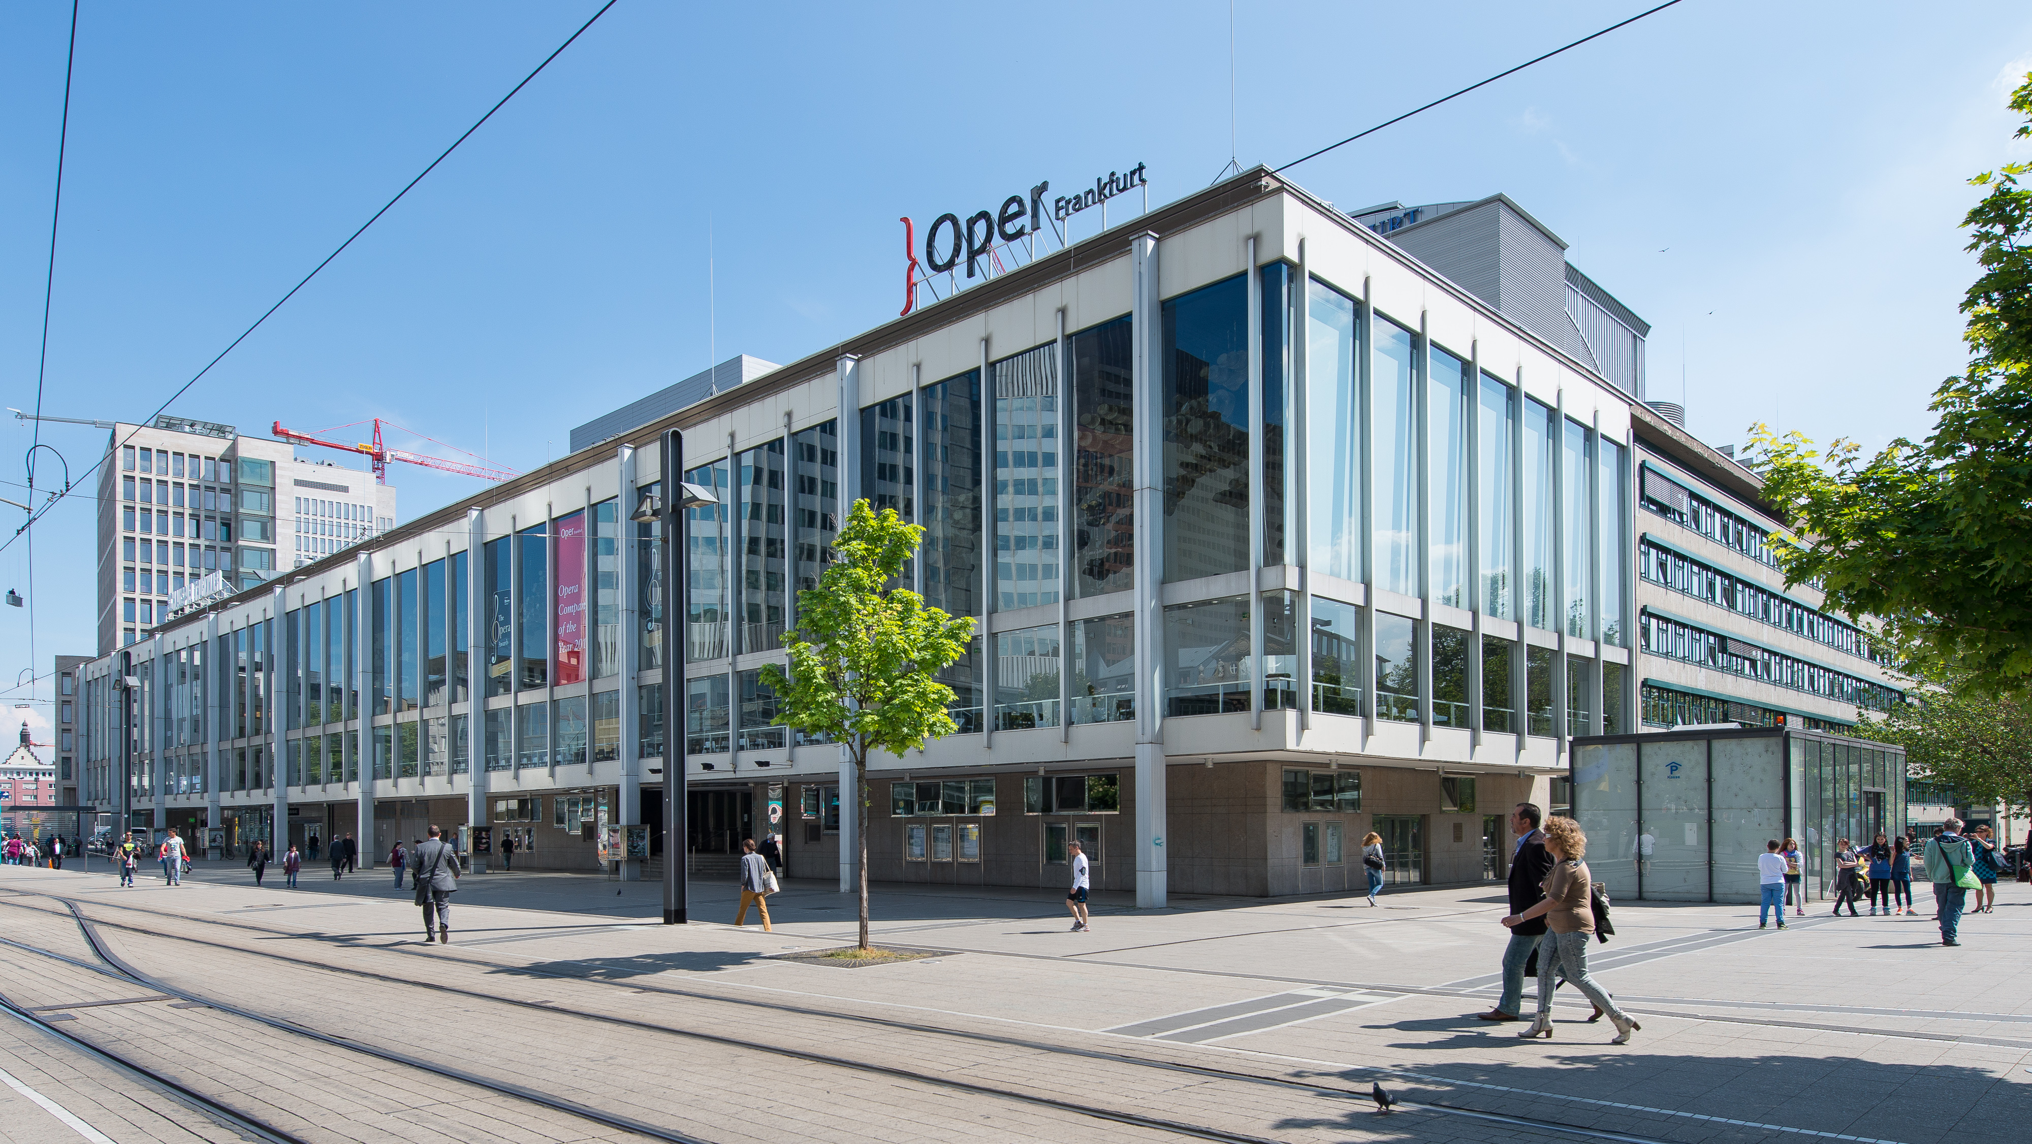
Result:
[[[719,504],[719,496],[695,484],[685,484],[685,439],[675,429],[662,435],[662,478],[660,492],[644,496],[642,504],[628,520],[650,524],[662,522],[662,585],[658,595],[666,601],[662,632],[662,925],[685,923],[685,729],[681,725],[679,683],[685,679],[685,644],[673,640],[673,632],[687,632],[691,616],[691,575],[679,567],[679,555],[689,551],[689,524],[685,510]],[[662,591],[675,583],[677,591]]]

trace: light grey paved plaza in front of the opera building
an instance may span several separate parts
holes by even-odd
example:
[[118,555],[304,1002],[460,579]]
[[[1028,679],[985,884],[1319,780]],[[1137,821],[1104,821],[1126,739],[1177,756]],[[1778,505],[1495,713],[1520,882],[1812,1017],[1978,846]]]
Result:
[[[1049,892],[876,886],[878,943],[937,955],[841,969],[782,957],[853,941],[853,898],[833,884],[790,882],[764,933],[752,916],[729,925],[736,892],[723,884],[691,886],[697,925],[662,927],[658,884],[471,876],[455,898],[453,945],[425,949],[410,896],[386,870],[333,882],[313,868],[295,892],[274,876],[254,888],[236,864],[201,864],[181,888],[146,874],[122,890],[98,868],[0,868],[0,937],[89,961],[57,902],[75,900],[126,961],[177,990],[360,1042],[429,1046],[463,1069],[632,1107],[713,1142],[1174,1138],[955,1093],[925,1073],[1254,1140],[1591,1130],[1924,1144],[2014,1138],[2032,1114],[2032,998],[2012,971],[2032,941],[2032,894],[2012,884],[1993,914],[1963,923],[1959,949],[1939,945],[1924,892],[1920,916],[1831,918],[1821,906],[1784,933],[1760,933],[1745,906],[1617,906],[1620,933],[1591,947],[1591,965],[1644,1028],[1611,1046],[1613,1028],[1587,1024],[1589,1006],[1567,992],[1552,1040],[1471,1016],[1494,1000],[1500,886],[1396,890],[1380,908],[1335,894],[1174,898],[1144,912],[1099,894],[1091,933],[1069,933]],[[96,1026],[152,1053],[165,1042],[150,1022],[183,1030],[169,1034],[171,1063],[230,1079],[305,1140],[415,1138],[404,1124],[459,1140],[628,1136],[555,1111],[510,1114],[502,1097],[439,1091],[447,1081],[272,1030],[248,1034],[215,1010],[126,1004],[134,986],[69,979],[79,971],[14,945],[0,947],[0,973],[6,996],[35,1008],[75,1004],[79,990],[124,992],[118,1006],[69,1010],[65,1028]],[[557,1010],[719,1040],[701,1051]],[[278,1059],[295,1065],[276,1069]],[[93,1065],[18,1022],[0,1026],[0,1061],[122,1144],[219,1138],[163,1101],[118,1095]],[[1374,1081],[1414,1105],[1463,1111],[1382,1116],[1349,1095]],[[65,1136],[75,1134],[43,1105],[0,1089],[0,1138]]]

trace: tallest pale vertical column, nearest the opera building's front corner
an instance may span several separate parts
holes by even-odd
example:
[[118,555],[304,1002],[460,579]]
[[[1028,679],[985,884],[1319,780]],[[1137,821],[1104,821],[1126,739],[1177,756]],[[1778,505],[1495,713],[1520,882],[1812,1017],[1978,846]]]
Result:
[[1156,280],[1156,234],[1130,240],[1132,451],[1136,599],[1136,908],[1168,904],[1164,784],[1164,329]]

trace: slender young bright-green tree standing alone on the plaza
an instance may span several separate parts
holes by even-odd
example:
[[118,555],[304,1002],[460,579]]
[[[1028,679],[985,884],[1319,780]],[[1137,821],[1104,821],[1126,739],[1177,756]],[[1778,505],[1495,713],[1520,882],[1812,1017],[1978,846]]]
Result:
[[868,756],[902,756],[957,729],[953,689],[939,673],[967,650],[971,618],[927,608],[898,587],[925,538],[894,508],[880,514],[855,500],[833,541],[819,587],[797,593],[797,630],[784,632],[790,671],[770,664],[762,683],[776,693],[776,723],[827,736],[853,762],[853,841],[860,847],[862,949],[868,945]]

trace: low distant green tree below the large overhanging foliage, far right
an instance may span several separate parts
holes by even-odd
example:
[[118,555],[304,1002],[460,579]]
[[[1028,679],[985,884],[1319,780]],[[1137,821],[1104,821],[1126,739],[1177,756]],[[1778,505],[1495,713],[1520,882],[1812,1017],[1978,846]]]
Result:
[[1981,695],[1961,679],[1932,679],[1910,703],[1865,717],[1855,734],[1906,750],[1912,778],[1979,805],[2032,805],[2032,701]]

